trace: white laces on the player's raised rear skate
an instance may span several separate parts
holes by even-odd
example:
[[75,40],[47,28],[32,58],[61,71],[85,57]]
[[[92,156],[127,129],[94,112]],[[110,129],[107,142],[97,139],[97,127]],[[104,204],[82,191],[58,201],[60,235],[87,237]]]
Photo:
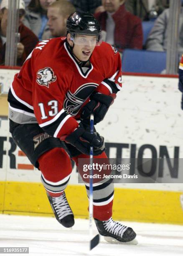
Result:
[[63,219],[69,214],[73,214],[67,202],[65,193],[63,193],[60,197],[52,197],[52,201],[59,220]]

